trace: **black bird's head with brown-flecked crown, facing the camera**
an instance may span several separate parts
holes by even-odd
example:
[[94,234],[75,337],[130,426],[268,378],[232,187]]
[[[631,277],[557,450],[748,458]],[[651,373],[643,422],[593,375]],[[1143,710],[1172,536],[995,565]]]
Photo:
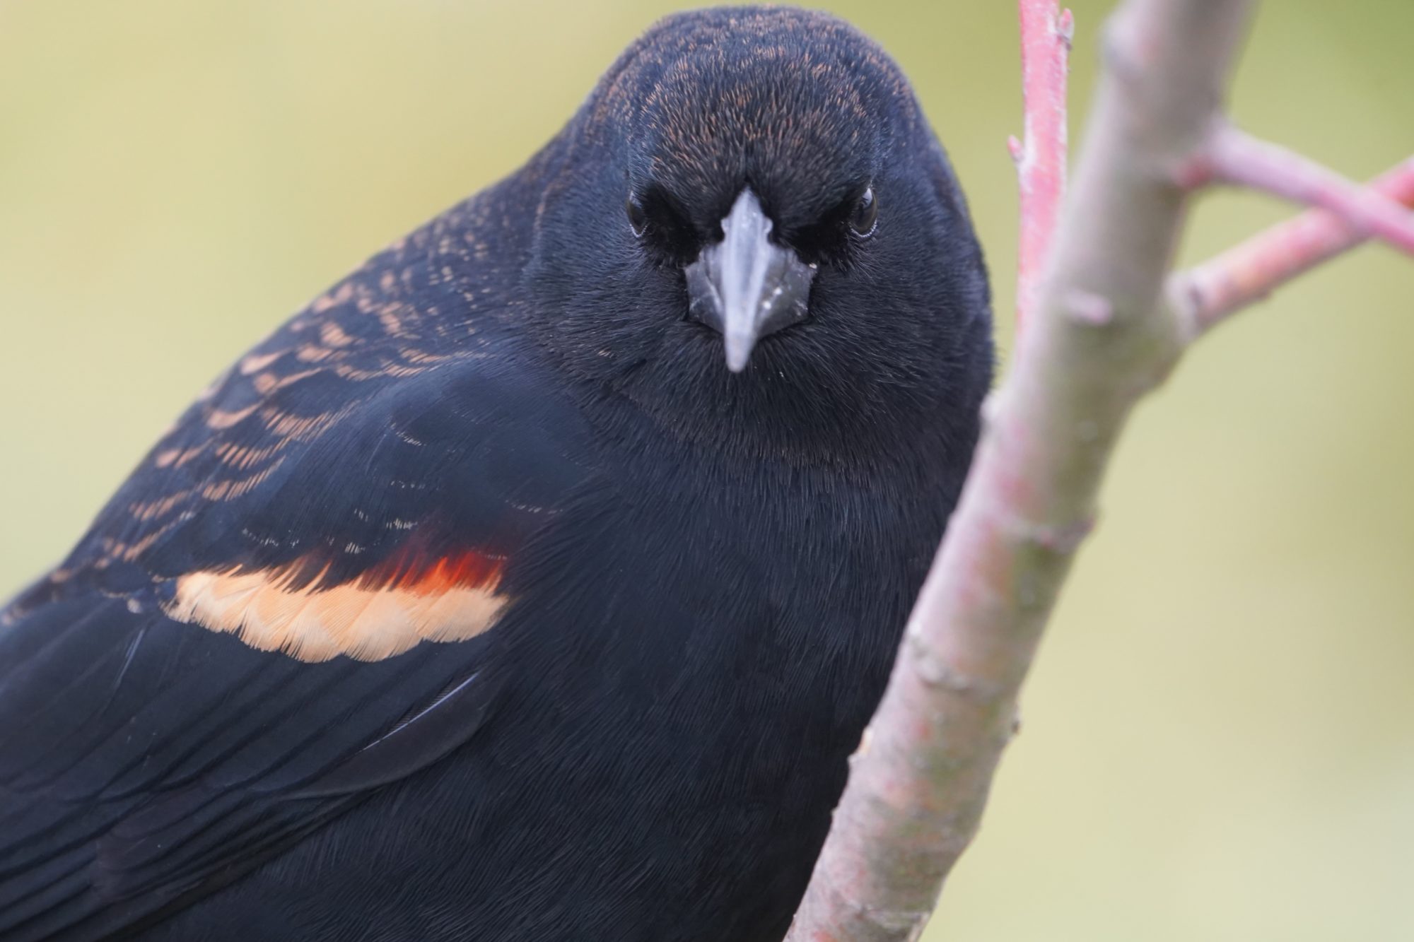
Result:
[[899,68],[841,20],[669,17],[533,167],[529,290],[580,375],[687,433],[976,412],[966,202]]

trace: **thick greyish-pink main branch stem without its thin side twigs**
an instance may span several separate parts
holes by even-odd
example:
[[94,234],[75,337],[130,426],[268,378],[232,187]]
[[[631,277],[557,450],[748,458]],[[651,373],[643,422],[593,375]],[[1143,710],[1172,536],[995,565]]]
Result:
[[1157,306],[1250,0],[1130,0],[1076,187],[988,407],[790,942],[916,939],[971,840],[1017,693],[1135,399],[1181,349]]

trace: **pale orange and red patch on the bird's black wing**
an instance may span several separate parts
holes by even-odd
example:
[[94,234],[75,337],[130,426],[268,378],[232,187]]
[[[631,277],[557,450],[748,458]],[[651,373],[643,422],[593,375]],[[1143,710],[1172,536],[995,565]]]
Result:
[[420,641],[465,641],[488,631],[509,601],[496,591],[501,570],[502,560],[475,552],[433,560],[397,556],[335,586],[320,577],[297,584],[303,560],[204,570],[177,580],[165,611],[300,661],[382,661]]

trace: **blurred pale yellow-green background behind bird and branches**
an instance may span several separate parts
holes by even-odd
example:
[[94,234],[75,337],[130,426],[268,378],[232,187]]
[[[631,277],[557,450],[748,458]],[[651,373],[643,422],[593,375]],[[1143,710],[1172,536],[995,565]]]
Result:
[[[649,0],[0,0],[0,597],[187,400],[508,173]],[[1010,341],[1011,0],[826,4],[912,75]],[[1079,1],[1083,127],[1109,3]],[[1414,151],[1414,3],[1266,4],[1239,122]],[[1281,218],[1203,201],[1198,259]],[[928,939],[1414,939],[1414,263],[1339,260],[1143,406]]]

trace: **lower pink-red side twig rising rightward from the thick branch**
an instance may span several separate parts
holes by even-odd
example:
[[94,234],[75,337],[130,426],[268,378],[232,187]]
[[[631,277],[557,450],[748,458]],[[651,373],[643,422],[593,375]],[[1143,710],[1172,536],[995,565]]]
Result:
[[[1414,208],[1414,157],[1374,180],[1370,190]],[[1198,335],[1229,314],[1369,238],[1328,209],[1281,222],[1169,280],[1169,300]]]

